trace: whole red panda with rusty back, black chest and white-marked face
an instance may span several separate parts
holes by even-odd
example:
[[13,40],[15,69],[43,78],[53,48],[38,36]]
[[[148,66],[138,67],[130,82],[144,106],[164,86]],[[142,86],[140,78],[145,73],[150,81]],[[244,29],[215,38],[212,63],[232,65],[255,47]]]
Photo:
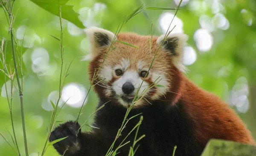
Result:
[[[115,37],[111,31],[96,27],[87,28],[86,33],[93,54],[90,79],[100,99],[98,107],[106,104],[95,116],[94,126],[99,129],[81,132],[77,122],[55,128],[50,141],[69,136],[54,144],[60,154],[105,155],[136,95],[141,98],[133,104],[129,116],[142,113],[138,136],[145,134],[138,142],[137,156],[170,156],[175,145],[175,156],[200,156],[212,138],[255,145],[249,130],[225,102],[183,75],[186,35],[151,39],[124,33]],[[114,149],[138,121],[139,116],[128,122]],[[127,141],[133,139],[134,133]],[[129,145],[120,148],[118,155],[127,156]]]

